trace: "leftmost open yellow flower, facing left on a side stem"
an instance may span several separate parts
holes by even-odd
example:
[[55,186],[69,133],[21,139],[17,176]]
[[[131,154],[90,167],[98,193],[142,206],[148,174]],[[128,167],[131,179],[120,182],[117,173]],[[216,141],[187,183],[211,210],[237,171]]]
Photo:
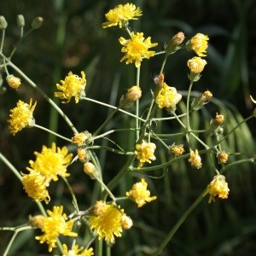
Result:
[[15,135],[16,132],[21,131],[26,126],[32,127],[35,125],[33,118],[33,111],[36,108],[37,102],[32,105],[32,99],[29,104],[19,101],[17,107],[10,110],[9,130]]

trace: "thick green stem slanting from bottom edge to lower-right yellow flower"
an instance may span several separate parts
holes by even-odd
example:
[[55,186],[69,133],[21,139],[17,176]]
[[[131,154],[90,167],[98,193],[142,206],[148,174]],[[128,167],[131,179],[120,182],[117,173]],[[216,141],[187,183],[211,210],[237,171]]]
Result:
[[180,228],[180,226],[183,224],[183,222],[189,217],[189,214],[194,211],[195,207],[199,205],[199,203],[203,200],[203,195],[205,191],[201,193],[201,195],[195,200],[195,202],[189,207],[189,209],[184,212],[183,216],[179,218],[177,223],[173,226],[172,230],[167,234],[164,241],[161,242],[160,247],[156,250],[156,252],[153,254],[153,256],[160,255],[162,250],[166,247],[169,241],[171,241],[172,236],[176,233],[176,231]]

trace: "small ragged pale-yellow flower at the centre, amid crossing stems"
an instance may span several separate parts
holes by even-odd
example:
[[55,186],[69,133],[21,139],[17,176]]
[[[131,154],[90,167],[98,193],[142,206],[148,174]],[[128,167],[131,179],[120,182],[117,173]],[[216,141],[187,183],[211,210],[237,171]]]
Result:
[[141,144],[136,145],[135,154],[137,154],[137,160],[139,160],[138,168],[143,166],[144,162],[151,164],[151,160],[155,160],[154,149],[156,148],[154,143],[146,143],[143,141]]

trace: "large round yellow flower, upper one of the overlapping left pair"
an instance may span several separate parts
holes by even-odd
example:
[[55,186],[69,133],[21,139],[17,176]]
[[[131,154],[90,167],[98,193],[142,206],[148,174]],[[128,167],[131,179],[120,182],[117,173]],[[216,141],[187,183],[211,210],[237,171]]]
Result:
[[70,175],[67,173],[67,166],[72,160],[73,154],[68,154],[67,147],[57,148],[55,143],[52,143],[51,148],[43,146],[41,153],[35,152],[34,154],[36,155],[36,160],[30,160],[31,167],[26,169],[30,172],[40,173],[45,178],[46,185],[51,180],[57,181],[57,175],[63,177]]

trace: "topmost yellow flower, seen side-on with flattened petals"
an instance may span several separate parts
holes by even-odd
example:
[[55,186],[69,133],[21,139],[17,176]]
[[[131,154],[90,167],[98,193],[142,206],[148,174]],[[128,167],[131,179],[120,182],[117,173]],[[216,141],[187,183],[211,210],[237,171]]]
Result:
[[119,4],[114,9],[110,9],[108,14],[106,14],[106,19],[108,21],[102,23],[102,27],[106,28],[108,26],[123,27],[126,26],[128,20],[137,20],[136,16],[143,15],[139,7],[132,3],[126,3],[125,5]]

